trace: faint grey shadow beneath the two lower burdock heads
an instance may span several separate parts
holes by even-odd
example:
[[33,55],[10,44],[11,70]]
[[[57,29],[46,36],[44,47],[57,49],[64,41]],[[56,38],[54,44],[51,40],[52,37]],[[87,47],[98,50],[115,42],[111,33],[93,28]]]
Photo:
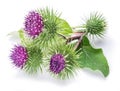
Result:
[[39,73],[36,75],[30,75],[27,74],[23,71],[18,71],[18,73],[15,76],[16,79],[21,79],[21,80],[30,80],[30,81],[36,81],[36,82],[46,82],[46,83],[53,83],[59,86],[66,86],[69,85],[73,82],[73,80],[75,81],[74,77],[71,79],[67,79],[67,80],[60,80],[60,79],[56,79],[52,76],[49,75],[49,73],[47,72],[43,72],[43,73]]

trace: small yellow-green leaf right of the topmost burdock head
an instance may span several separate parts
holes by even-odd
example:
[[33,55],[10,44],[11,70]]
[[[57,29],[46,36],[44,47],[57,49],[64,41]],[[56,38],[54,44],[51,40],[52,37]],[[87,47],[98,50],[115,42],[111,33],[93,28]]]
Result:
[[58,27],[59,30],[57,30],[57,33],[62,34],[64,36],[70,36],[73,31],[72,28],[70,27],[70,25],[67,23],[67,21],[63,20],[63,19],[58,19]]

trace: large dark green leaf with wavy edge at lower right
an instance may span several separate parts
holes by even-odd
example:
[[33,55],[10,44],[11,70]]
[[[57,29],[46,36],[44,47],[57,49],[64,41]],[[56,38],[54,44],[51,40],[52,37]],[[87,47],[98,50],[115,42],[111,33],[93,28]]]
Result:
[[93,48],[87,37],[83,37],[81,43],[79,62],[82,68],[87,67],[92,70],[99,70],[105,77],[109,74],[109,66],[102,49]]

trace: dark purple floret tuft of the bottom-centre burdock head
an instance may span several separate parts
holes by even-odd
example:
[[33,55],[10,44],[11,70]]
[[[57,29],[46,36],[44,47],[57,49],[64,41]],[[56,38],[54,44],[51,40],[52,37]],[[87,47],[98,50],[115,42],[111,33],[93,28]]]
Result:
[[62,54],[54,54],[50,60],[50,70],[56,74],[65,68],[65,59]]

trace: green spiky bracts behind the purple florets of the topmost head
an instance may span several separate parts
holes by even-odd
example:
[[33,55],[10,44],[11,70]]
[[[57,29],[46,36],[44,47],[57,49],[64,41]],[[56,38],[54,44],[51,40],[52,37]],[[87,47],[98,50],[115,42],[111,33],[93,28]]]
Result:
[[53,9],[43,8],[40,10],[37,10],[43,17],[44,22],[44,29],[43,32],[36,38],[35,44],[41,45],[42,49],[47,48],[48,45],[51,44],[52,41],[54,41],[57,30],[58,30],[58,18],[59,15],[57,12],[54,12]]

